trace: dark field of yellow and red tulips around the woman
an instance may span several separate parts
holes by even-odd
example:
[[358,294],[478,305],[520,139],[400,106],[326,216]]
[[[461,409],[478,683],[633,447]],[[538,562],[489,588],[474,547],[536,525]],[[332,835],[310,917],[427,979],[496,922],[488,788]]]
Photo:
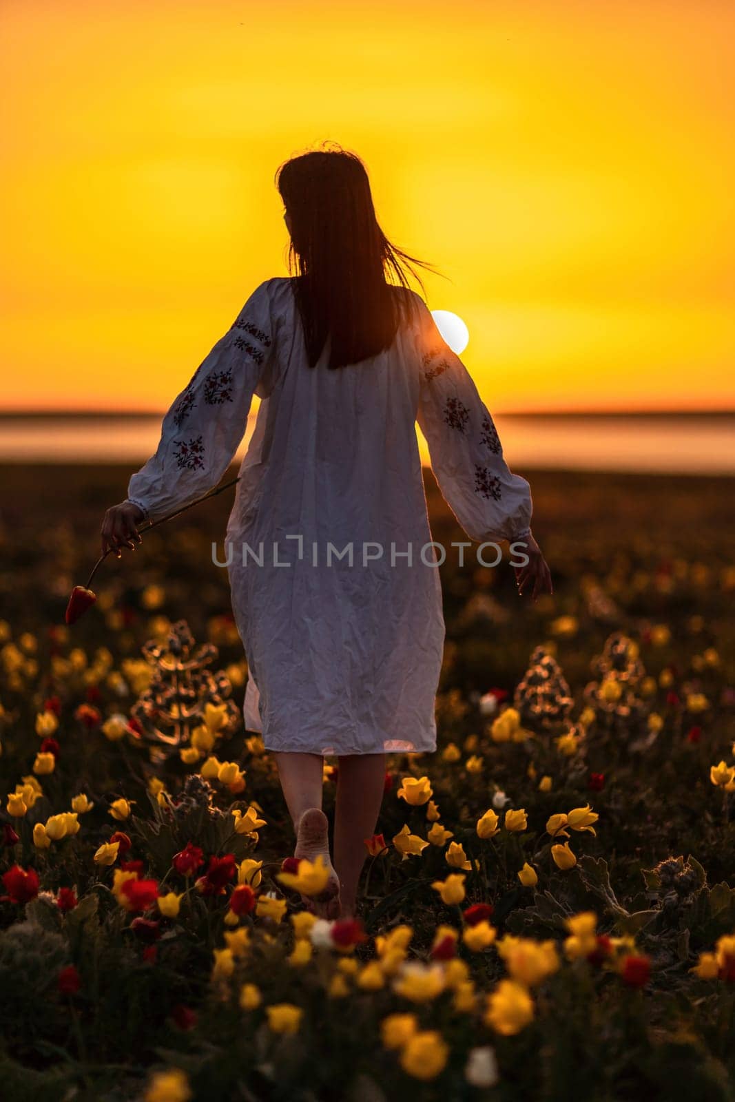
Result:
[[735,1099],[729,487],[531,484],[554,596],[447,555],[437,752],[388,758],[360,917],[328,922],[242,727],[228,503],[67,627],[123,473],[3,480],[3,1096]]

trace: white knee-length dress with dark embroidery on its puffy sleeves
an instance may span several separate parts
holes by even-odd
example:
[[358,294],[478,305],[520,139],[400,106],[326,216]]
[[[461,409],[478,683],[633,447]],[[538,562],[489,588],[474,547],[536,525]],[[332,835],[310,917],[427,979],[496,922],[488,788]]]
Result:
[[227,471],[260,398],[226,548],[249,668],[246,727],[269,750],[436,747],[444,619],[417,420],[467,536],[529,531],[529,485],[505,463],[471,376],[420,295],[396,293],[411,294],[418,314],[392,346],[333,371],[326,349],[309,367],[291,280],[266,280],[130,479],[129,500],[151,519],[193,501]]

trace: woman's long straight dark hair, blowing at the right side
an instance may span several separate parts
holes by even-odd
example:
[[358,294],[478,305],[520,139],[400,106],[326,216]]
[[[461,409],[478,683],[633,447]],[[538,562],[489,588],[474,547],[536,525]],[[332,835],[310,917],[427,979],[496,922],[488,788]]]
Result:
[[[314,367],[331,336],[329,368],[377,356],[408,321],[413,295],[404,269],[433,266],[391,245],[378,225],[363,161],[342,147],[284,161],[275,186],[291,220],[289,272]],[[387,280],[398,278],[404,290]],[[441,273],[440,273],[441,274]],[[425,300],[425,293],[423,295]]]

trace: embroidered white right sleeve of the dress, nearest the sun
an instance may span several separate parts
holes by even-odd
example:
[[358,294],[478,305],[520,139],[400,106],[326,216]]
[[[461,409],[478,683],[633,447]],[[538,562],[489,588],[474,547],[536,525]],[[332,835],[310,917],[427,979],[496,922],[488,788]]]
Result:
[[442,495],[471,539],[521,539],[530,531],[531,488],[505,462],[477,387],[419,295],[417,305],[417,420]]

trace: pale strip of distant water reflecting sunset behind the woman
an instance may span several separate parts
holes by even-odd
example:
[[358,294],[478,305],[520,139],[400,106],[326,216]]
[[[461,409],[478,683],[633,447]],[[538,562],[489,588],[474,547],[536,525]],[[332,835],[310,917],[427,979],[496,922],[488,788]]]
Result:
[[[514,469],[735,474],[735,414],[498,414]],[[242,455],[255,426],[248,421]],[[158,445],[150,414],[2,414],[2,463],[130,463]],[[429,455],[420,437],[424,463]]]

